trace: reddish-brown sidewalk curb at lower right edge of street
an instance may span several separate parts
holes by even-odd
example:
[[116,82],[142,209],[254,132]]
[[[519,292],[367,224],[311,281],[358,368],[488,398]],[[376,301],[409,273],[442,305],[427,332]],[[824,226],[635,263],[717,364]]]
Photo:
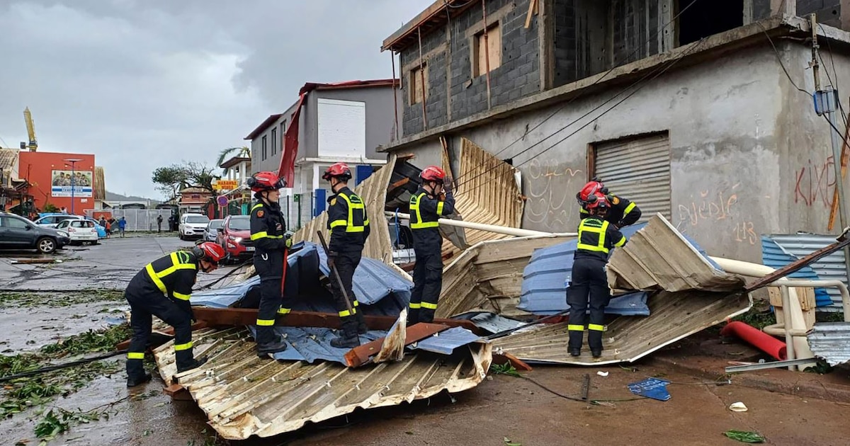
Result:
[[[651,358],[656,365],[664,366],[687,375],[699,376],[708,380],[717,380],[718,376],[726,376],[723,367],[717,366],[717,361],[703,358],[670,358],[658,356]],[[687,361],[687,364],[686,362]],[[725,364],[725,361],[720,361]],[[794,375],[785,375],[794,374]],[[821,375],[790,370],[759,370],[740,372],[729,375],[732,384],[750,387],[768,392],[779,392],[802,398],[818,398],[835,403],[850,404],[850,385],[824,382]]]

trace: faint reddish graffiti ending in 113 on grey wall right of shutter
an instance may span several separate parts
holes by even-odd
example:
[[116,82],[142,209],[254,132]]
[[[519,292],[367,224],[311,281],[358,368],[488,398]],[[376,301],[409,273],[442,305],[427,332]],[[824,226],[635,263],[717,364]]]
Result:
[[677,206],[676,229],[686,233],[688,229],[722,228],[728,230],[739,243],[755,245],[758,241],[755,225],[742,217],[739,212],[737,189],[740,183],[732,187],[701,190],[696,199]]

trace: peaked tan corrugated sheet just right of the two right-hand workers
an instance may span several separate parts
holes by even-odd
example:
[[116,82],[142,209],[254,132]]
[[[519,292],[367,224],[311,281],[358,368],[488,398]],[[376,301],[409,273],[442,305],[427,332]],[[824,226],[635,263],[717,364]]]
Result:
[[723,272],[660,213],[617,248],[606,266],[615,291],[740,291],[744,279]]

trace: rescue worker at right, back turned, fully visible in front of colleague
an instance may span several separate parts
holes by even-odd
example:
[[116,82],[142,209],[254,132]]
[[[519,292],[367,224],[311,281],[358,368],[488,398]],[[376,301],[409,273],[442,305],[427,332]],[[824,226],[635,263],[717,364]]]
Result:
[[605,219],[611,209],[608,197],[598,192],[587,199],[590,216],[579,223],[578,245],[573,257],[572,282],[567,291],[567,303],[570,304],[570,355],[581,354],[581,342],[584,337],[587,307],[590,303],[590,320],[587,321],[587,345],[593,358],[602,356],[602,332],[605,319],[605,307],[611,300],[608,279],[605,276],[605,263],[609,251],[626,244],[626,237]]

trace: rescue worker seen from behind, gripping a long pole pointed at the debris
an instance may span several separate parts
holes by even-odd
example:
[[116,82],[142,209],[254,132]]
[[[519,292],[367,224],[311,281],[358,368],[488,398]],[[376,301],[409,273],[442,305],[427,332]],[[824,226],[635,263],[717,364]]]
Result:
[[365,204],[360,196],[348,189],[351,170],[344,162],[337,162],[328,167],[321,177],[331,183],[331,195],[327,202],[327,229],[331,231],[328,242],[327,264],[337,268],[339,278],[343,282],[348,299],[351,299],[351,310],[345,302],[343,289],[331,272],[331,292],[334,304],[343,322],[342,336],[331,341],[332,347],[357,347],[360,345],[358,334],[364,334],[366,327],[363,313],[360,312],[360,302],[354,296],[352,280],[354,270],[360,264],[360,256],[366,238],[369,237],[369,217],[366,215]]

